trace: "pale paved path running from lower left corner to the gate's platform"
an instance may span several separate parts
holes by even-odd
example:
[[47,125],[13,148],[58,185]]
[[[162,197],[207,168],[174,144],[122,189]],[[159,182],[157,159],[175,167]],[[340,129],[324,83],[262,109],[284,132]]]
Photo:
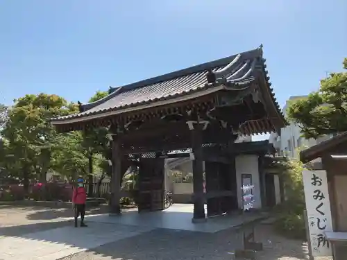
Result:
[[55,260],[151,230],[148,227],[101,223],[90,223],[90,227],[75,228],[70,224],[67,227],[21,236],[0,236],[0,259]]

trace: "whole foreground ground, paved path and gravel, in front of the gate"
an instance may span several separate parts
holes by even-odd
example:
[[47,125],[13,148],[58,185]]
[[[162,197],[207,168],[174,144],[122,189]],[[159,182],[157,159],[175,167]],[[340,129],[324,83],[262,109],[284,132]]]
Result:
[[[0,206],[0,259],[230,260],[242,236],[237,228],[211,233],[122,223],[90,222],[90,227],[75,229],[71,214],[71,209]],[[305,244],[274,234],[271,225],[257,225],[255,236],[264,243],[257,259],[306,259]],[[45,247],[45,254],[39,254]]]

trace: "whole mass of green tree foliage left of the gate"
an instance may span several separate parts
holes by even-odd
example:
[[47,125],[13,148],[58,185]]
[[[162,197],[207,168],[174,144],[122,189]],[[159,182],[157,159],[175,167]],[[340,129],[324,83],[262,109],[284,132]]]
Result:
[[[96,92],[90,103],[108,96]],[[0,168],[19,179],[28,192],[31,180],[46,181],[49,171],[70,180],[78,175],[110,175],[108,128],[69,133],[56,131],[50,119],[78,112],[78,105],[50,94],[27,94],[8,109],[0,105]],[[101,181],[100,181],[101,182]]]

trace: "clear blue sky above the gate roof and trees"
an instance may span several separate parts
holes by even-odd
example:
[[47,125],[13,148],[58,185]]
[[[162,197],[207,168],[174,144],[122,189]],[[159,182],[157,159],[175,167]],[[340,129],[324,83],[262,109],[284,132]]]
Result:
[[347,57],[346,0],[1,0],[0,103],[96,90],[264,44],[281,105]]

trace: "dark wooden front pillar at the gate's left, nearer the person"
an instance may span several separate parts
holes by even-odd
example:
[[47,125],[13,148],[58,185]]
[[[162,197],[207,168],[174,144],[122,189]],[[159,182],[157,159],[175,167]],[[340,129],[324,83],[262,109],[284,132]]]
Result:
[[121,214],[121,207],[119,205],[121,193],[121,157],[120,138],[117,135],[113,135],[110,216]]

